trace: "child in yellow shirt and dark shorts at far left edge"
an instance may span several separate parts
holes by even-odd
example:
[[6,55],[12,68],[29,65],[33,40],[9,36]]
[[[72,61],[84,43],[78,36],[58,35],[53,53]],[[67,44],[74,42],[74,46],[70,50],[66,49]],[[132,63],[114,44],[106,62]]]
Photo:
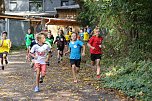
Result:
[[8,64],[7,55],[11,48],[11,41],[7,39],[7,32],[2,32],[2,38],[0,40],[0,67],[4,70],[3,60],[5,64]]

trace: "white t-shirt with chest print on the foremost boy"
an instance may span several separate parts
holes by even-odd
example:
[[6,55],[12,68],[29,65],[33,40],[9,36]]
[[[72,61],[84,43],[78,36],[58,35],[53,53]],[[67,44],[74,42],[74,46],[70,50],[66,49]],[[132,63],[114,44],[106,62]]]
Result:
[[45,63],[45,59],[47,57],[48,52],[50,52],[51,49],[47,44],[43,44],[43,45],[39,45],[39,44],[35,44],[30,52],[34,53],[36,58],[35,63],[40,63],[40,64],[46,64]]

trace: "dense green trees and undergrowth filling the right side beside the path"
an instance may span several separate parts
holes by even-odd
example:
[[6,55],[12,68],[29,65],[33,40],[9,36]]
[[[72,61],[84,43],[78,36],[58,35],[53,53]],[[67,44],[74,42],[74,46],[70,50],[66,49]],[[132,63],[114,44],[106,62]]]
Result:
[[152,1],[86,0],[78,20],[83,26],[106,28],[102,65],[105,87],[144,101],[152,99]]

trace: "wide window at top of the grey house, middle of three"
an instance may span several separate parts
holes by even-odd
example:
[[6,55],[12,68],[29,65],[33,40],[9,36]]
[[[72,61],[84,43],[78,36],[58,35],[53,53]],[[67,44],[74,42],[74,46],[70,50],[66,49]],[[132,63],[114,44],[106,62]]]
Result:
[[29,11],[43,11],[43,0],[30,0]]

